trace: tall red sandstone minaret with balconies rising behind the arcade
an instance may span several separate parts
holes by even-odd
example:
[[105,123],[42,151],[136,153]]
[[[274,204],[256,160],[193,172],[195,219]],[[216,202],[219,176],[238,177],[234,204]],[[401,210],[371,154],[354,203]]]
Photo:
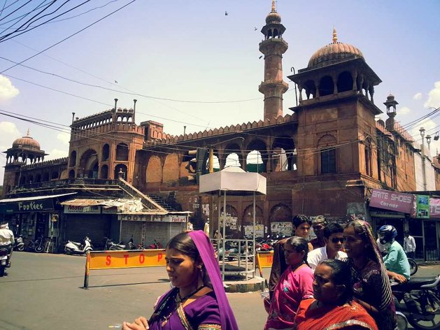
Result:
[[258,90],[264,94],[264,119],[283,115],[283,94],[289,88],[283,81],[283,54],[288,50],[288,43],[282,37],[284,31],[275,0],[272,0],[272,10],[261,30],[264,41],[260,43],[260,52],[264,54],[264,81]]

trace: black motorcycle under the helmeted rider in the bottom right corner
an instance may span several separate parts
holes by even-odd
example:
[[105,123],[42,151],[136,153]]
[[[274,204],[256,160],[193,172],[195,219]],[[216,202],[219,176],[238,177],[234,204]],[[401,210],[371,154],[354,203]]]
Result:
[[[439,285],[440,275],[411,278],[406,283],[392,285],[398,315],[404,315],[414,329],[440,329]],[[406,329],[403,318],[398,320],[398,329]]]

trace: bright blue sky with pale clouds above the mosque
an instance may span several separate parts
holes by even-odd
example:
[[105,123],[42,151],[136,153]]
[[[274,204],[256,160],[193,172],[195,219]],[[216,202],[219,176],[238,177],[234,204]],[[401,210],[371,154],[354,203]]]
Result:
[[[11,31],[8,20],[20,16],[18,10],[6,17],[10,3],[0,0],[0,38]],[[136,123],[162,122],[172,135],[183,134],[184,126],[191,133],[262,119],[264,58],[258,47],[270,10],[271,0],[93,0],[58,21],[0,39],[0,151],[29,129],[49,154],[45,159],[66,157],[72,113],[108,110],[115,98],[121,108],[132,108],[137,99]],[[359,48],[383,81],[375,88],[376,106],[386,113],[383,102],[395,95],[396,120],[416,121],[409,132],[418,143],[420,127],[432,136],[440,131],[439,117],[417,121],[440,106],[440,1],[278,0],[276,10],[289,45],[286,82],[292,68],[305,68],[315,50],[332,42],[336,27],[338,41]],[[289,87],[284,114],[295,106],[292,82]],[[440,141],[430,148],[435,155]],[[0,166],[5,161],[1,154]]]

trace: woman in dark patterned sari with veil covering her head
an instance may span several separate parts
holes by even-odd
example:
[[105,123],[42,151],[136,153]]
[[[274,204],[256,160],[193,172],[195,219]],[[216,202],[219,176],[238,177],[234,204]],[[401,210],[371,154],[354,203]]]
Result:
[[353,296],[378,329],[394,330],[397,324],[390,280],[368,222],[354,220],[343,229],[344,247],[353,277]]

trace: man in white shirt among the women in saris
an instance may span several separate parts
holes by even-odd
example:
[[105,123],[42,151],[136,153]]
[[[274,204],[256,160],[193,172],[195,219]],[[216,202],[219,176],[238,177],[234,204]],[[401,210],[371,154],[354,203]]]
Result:
[[342,252],[343,227],[341,224],[332,222],[324,228],[325,246],[308,252],[307,262],[313,271],[316,266],[325,259],[345,259],[346,252]]

